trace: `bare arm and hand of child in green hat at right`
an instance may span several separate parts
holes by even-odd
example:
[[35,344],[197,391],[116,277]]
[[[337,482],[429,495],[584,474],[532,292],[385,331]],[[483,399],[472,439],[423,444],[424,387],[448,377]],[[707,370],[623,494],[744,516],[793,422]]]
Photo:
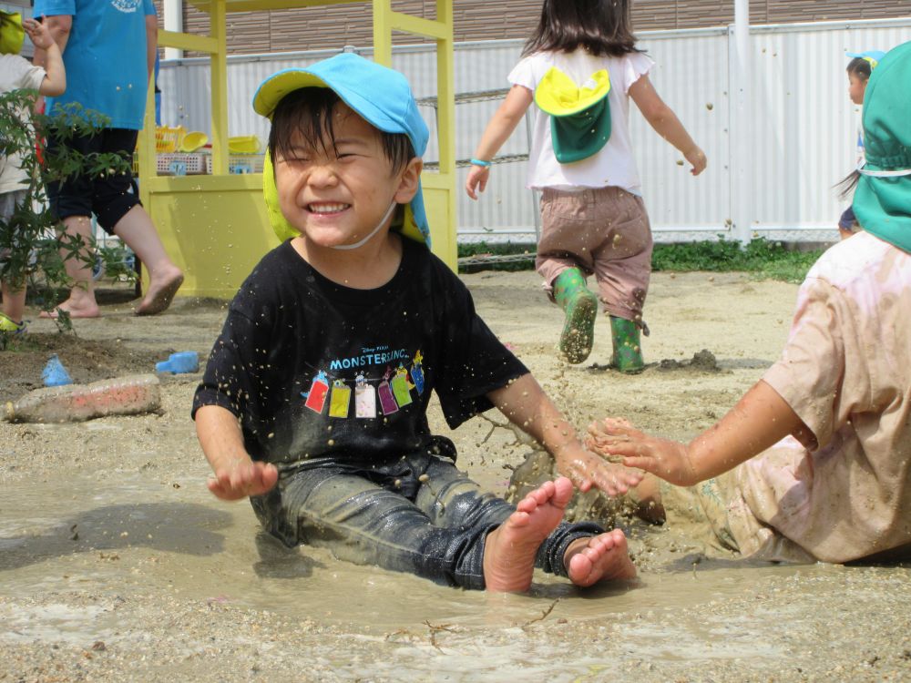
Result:
[[771,385],[760,381],[732,410],[689,445],[633,429],[626,420],[608,418],[589,426],[589,447],[621,455],[623,464],[657,474],[671,484],[691,486],[733,469],[788,434],[812,445],[815,437]]

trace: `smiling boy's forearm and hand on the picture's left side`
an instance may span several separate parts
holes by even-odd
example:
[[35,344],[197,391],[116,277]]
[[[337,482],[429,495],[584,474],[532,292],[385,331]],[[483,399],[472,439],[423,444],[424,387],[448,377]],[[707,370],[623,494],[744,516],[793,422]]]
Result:
[[229,410],[220,405],[202,406],[196,412],[196,435],[215,473],[209,490],[222,500],[264,494],[278,481],[274,464],[255,461],[247,453],[241,425]]

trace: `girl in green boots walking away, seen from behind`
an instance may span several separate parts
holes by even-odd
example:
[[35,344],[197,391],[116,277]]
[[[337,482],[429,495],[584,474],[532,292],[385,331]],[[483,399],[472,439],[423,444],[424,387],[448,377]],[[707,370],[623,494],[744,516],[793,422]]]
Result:
[[[640,331],[651,274],[651,229],[632,155],[630,97],[651,127],[698,176],[705,154],[649,80],[636,47],[630,0],[545,0],[535,33],[509,74],[513,84],[471,159],[466,192],[486,189],[491,159],[537,105],[527,186],[542,191],[537,272],[565,311],[559,350],[583,362],[594,343],[598,301],[610,317],[621,372],[644,367]],[[594,274],[599,297],[586,279]]]

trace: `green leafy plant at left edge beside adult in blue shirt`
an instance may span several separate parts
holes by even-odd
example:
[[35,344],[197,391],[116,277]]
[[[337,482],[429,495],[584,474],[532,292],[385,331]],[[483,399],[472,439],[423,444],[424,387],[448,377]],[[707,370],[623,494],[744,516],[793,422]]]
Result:
[[[0,95],[0,156],[15,155],[26,181],[25,199],[9,219],[0,219],[0,278],[12,289],[26,285],[41,292],[39,302],[51,311],[72,286],[67,276],[66,261],[84,260],[92,265],[96,245],[86,244],[59,231],[47,203],[46,183],[65,182],[70,178],[103,177],[128,172],[128,159],[114,153],[81,154],[66,144],[40,148],[36,140],[54,138],[66,143],[76,137],[91,136],[109,123],[106,117],[76,104],[55,110],[52,115],[31,114],[35,109],[35,90],[14,90]],[[40,148],[40,149],[39,149]],[[112,250],[101,250],[104,260],[124,262]],[[119,277],[125,275],[116,265],[107,270]],[[56,318],[60,331],[71,331],[66,311]]]

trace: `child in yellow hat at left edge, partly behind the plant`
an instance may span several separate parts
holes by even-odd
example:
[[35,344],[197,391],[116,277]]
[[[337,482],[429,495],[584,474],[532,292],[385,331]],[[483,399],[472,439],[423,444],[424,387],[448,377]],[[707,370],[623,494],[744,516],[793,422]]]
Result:
[[[26,34],[39,49],[47,50],[45,67],[35,66],[19,55]],[[53,97],[67,89],[67,71],[63,56],[54,43],[46,25],[34,19],[21,19],[17,13],[0,12],[0,95],[14,90],[36,90],[40,95]],[[19,122],[29,126],[29,114],[20,111]],[[26,199],[26,172],[20,168],[20,153],[0,156],[0,227],[9,230],[2,242],[15,241],[13,221],[16,207]],[[0,269],[3,267],[3,252],[0,252]],[[0,270],[2,272],[2,270]],[[3,309],[0,310],[0,333],[14,334],[25,331],[22,317],[26,310],[26,282],[0,278],[3,291]]]

